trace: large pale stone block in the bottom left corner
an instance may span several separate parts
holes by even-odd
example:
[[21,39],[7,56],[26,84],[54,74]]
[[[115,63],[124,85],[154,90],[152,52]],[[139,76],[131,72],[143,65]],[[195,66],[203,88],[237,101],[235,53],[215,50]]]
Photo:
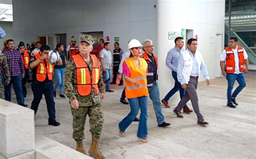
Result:
[[0,99],[0,158],[35,158],[34,111]]

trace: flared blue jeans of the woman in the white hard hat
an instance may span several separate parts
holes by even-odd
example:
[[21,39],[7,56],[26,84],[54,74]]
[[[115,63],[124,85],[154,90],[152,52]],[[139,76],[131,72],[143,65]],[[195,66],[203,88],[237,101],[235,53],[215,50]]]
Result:
[[119,122],[119,129],[125,132],[126,128],[136,118],[140,109],[139,128],[137,137],[147,138],[147,107],[149,106],[149,97],[137,97],[128,99],[131,107],[131,112]]

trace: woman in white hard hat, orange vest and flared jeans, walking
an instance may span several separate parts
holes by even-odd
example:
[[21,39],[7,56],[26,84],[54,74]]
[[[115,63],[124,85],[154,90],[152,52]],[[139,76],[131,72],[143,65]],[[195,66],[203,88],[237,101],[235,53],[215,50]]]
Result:
[[140,119],[137,137],[139,141],[147,142],[147,107],[149,105],[149,92],[147,91],[147,63],[139,57],[142,55],[142,44],[132,39],[128,48],[131,51],[130,58],[123,63],[125,77],[125,95],[129,100],[131,112],[119,122],[119,135],[125,136],[125,129],[136,118],[140,109]]

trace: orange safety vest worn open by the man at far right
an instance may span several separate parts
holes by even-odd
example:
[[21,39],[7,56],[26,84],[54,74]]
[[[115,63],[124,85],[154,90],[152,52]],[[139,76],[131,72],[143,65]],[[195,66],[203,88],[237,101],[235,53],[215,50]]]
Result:
[[[237,49],[239,57],[239,70],[242,72],[245,70],[244,49],[241,46],[237,46]],[[235,59],[231,47],[226,48],[226,54],[226,72],[228,74],[233,74],[235,71]]]

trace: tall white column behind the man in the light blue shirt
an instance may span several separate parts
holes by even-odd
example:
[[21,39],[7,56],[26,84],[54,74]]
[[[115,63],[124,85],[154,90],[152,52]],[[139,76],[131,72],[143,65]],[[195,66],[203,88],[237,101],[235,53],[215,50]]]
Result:
[[[180,36],[181,28],[186,28],[186,0],[158,0],[157,3],[158,84],[160,99],[163,99],[174,86],[171,69],[165,65],[167,53],[175,46],[174,40],[169,40],[168,33],[178,32]],[[176,105],[179,100],[179,92],[177,92],[169,103]]]

